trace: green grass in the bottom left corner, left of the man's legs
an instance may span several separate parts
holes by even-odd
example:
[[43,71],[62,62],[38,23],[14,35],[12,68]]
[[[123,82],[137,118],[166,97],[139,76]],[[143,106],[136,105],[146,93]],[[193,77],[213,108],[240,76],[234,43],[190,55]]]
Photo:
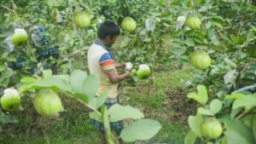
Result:
[[[40,116],[39,116],[40,117]],[[28,119],[23,119],[28,120]],[[88,122],[88,117],[83,112],[74,110],[63,112],[59,119],[44,119],[37,124],[34,130],[26,130],[24,123],[16,124],[20,131],[9,131],[9,135],[0,137],[4,144],[98,144],[99,135],[96,128]],[[26,123],[27,124],[27,123]],[[23,128],[23,130],[21,130]],[[33,133],[33,134],[32,134]],[[6,137],[7,136],[7,137]]]

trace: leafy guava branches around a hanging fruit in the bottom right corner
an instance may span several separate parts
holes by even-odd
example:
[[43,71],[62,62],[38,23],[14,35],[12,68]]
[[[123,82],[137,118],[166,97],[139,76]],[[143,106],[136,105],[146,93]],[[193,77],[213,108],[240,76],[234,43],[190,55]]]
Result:
[[[208,97],[207,93],[201,91],[206,89],[201,85],[198,87],[198,96],[189,93],[188,97],[195,101],[204,101]],[[193,144],[196,138],[201,138],[203,143],[247,143],[253,144],[256,141],[253,121],[255,117],[256,95],[248,92],[233,93],[224,96],[224,99],[214,99],[210,102],[200,102],[195,116],[189,116],[190,131],[186,136],[185,143]],[[218,119],[217,119],[218,118]],[[213,119],[212,123],[205,123]],[[222,134],[222,123],[224,132]],[[207,130],[211,126],[211,130]],[[202,134],[206,137],[203,137]],[[213,140],[211,140],[213,138]]]

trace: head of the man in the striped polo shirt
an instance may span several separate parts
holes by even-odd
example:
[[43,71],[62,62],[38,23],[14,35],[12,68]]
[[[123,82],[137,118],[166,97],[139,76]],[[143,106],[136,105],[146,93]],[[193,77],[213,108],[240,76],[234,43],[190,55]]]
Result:
[[111,47],[120,34],[119,26],[115,25],[112,21],[104,21],[98,27],[97,34],[104,44]]

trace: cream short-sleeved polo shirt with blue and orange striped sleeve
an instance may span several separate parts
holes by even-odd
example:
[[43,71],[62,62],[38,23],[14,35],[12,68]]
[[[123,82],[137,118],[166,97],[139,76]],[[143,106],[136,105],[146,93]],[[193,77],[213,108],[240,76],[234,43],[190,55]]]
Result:
[[101,84],[96,95],[102,95],[104,91],[108,92],[108,98],[116,98],[118,95],[118,84],[112,84],[107,72],[116,71],[113,56],[110,50],[104,44],[96,41],[90,46],[87,53],[88,66],[90,74],[97,74]]

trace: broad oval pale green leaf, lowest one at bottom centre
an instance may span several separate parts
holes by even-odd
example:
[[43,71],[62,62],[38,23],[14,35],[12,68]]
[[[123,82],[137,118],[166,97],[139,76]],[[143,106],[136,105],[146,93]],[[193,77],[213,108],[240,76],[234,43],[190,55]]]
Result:
[[140,119],[126,126],[122,130],[120,137],[125,142],[146,141],[156,135],[160,128],[160,123],[153,119]]

